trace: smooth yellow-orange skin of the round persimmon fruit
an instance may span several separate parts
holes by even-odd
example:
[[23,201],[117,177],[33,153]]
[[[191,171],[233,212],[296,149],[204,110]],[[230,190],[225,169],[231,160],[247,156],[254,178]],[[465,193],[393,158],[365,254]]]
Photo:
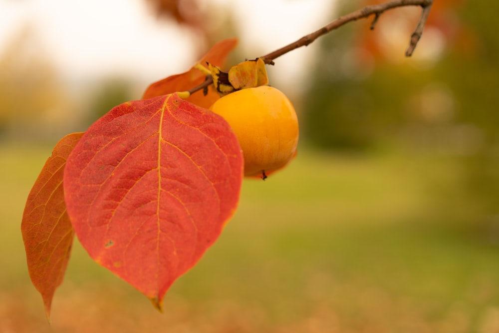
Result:
[[263,85],[239,90],[217,100],[210,110],[224,117],[238,137],[245,176],[266,178],[296,155],[298,117],[278,89]]

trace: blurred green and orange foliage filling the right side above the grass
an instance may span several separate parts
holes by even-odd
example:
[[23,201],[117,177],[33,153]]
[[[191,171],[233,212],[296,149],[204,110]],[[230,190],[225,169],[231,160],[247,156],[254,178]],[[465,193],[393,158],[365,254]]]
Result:
[[[413,9],[408,17],[417,20],[419,8]],[[498,9],[496,2],[436,4],[407,59],[414,25],[397,47],[390,48],[396,35],[383,36],[401,26],[401,8],[381,15],[374,31],[357,24],[324,37],[304,102],[303,133],[326,150],[391,146],[451,158],[459,177],[439,189],[436,207],[456,216],[473,210],[474,222],[498,214]]]

